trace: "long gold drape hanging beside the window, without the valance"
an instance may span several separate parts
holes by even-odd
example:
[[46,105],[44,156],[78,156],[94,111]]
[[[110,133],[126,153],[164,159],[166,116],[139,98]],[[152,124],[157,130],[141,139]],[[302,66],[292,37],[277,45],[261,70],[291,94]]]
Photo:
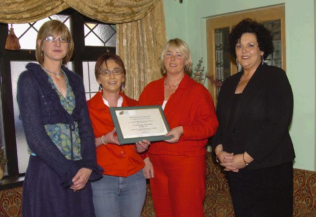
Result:
[[162,0],[143,19],[117,25],[118,55],[126,67],[124,93],[138,99],[151,81],[161,77],[160,53],[166,43]]

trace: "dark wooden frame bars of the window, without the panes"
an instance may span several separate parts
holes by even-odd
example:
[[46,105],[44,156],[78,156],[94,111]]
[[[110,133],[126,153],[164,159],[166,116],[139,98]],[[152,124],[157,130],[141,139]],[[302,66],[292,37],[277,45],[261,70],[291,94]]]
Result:
[[[84,45],[84,22],[108,24],[88,18],[78,11],[68,8],[58,14],[71,16],[71,33],[74,39],[74,53],[70,61],[73,62],[74,72],[83,77],[82,62],[96,61],[97,58],[108,52],[116,53],[116,47],[85,46]],[[76,33],[76,34],[74,34]],[[14,108],[11,83],[10,61],[36,61],[35,50],[5,50],[5,41],[8,36],[8,24],[0,23],[0,88],[2,100],[3,138],[6,151],[7,173],[4,184],[14,182],[12,179],[24,177],[25,173],[19,174],[18,156],[14,126]],[[16,85],[16,84],[14,84]],[[1,133],[1,132],[0,132]],[[12,180],[12,181],[9,181]],[[18,179],[21,180],[21,179]],[[21,182],[21,181],[20,181]],[[20,184],[18,184],[20,185]],[[12,185],[10,185],[12,187]],[[0,189],[3,186],[0,186]]]

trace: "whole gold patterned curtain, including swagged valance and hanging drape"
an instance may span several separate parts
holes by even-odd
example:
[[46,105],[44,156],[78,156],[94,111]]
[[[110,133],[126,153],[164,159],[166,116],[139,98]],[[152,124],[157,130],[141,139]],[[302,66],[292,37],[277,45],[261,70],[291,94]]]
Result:
[[0,0],[0,22],[31,23],[69,7],[87,17],[117,25],[117,52],[124,61],[125,94],[138,99],[158,79],[166,42],[163,0]]

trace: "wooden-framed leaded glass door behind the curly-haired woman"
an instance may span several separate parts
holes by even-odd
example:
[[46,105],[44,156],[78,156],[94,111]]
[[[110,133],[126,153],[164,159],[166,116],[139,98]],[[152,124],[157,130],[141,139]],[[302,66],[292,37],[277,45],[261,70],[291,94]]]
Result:
[[[273,35],[275,51],[265,60],[285,71],[285,15],[284,5],[212,17],[206,20],[208,89],[217,104],[223,81],[238,72],[236,59],[229,52],[228,36],[234,25],[244,18],[262,22]],[[239,66],[240,67],[240,66]]]

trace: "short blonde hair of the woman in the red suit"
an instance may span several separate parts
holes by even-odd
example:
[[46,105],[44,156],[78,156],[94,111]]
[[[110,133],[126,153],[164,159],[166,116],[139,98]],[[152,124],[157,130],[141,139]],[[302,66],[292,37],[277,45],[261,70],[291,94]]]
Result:
[[161,56],[160,56],[160,70],[164,74],[166,73],[166,68],[164,66],[164,55],[167,53],[169,48],[175,48],[177,49],[180,53],[182,53],[185,56],[185,67],[184,67],[184,72],[187,74],[191,74],[192,71],[192,57],[190,53],[190,49],[188,44],[184,41],[181,40],[180,38],[174,38],[170,39],[166,45],[164,46]]

